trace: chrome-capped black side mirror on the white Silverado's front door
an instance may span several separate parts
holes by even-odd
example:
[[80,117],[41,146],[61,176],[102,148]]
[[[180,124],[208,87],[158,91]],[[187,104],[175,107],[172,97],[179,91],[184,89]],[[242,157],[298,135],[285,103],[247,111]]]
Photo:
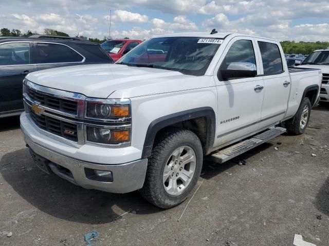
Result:
[[257,75],[257,68],[252,63],[231,63],[227,69],[220,69],[220,72],[223,80],[251,78]]

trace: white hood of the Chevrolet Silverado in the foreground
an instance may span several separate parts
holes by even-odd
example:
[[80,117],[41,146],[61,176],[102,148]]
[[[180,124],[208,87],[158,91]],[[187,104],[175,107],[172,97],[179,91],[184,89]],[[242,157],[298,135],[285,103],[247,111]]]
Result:
[[193,89],[190,88],[193,83],[188,86],[188,80],[196,77],[163,69],[102,64],[47,69],[30,73],[26,78],[41,86],[81,93],[88,97],[107,98],[121,90],[122,93],[116,93],[116,96],[129,98]]

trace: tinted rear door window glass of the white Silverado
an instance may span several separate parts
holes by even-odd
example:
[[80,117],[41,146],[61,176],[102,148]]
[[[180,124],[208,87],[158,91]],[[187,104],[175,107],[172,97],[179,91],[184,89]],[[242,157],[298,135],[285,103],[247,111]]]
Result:
[[276,44],[258,42],[261,50],[264,75],[277,74],[283,71],[279,47]]

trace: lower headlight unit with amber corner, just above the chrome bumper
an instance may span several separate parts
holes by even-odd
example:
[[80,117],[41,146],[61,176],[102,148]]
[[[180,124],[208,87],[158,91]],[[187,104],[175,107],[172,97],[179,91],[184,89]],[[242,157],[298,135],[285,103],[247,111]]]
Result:
[[130,130],[114,130],[87,126],[87,140],[100,144],[120,144],[130,141]]

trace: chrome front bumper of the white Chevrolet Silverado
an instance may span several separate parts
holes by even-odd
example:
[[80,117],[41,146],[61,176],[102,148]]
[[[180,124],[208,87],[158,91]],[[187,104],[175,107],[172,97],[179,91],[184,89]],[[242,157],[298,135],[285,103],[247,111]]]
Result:
[[[148,166],[147,158],[116,165],[78,160],[41,146],[32,140],[22,124],[21,129],[36,165],[47,173],[57,174],[85,189],[113,193],[132,192],[143,186]],[[99,148],[102,149],[102,147]],[[113,181],[104,182],[90,179],[86,176],[86,169],[111,171]]]

